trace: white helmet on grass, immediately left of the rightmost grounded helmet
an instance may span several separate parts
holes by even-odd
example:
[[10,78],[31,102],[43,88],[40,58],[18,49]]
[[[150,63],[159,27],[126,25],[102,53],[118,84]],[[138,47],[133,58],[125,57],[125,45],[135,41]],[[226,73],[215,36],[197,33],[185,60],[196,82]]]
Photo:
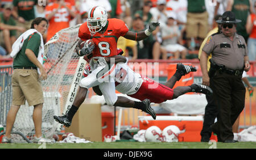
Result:
[[162,130],[155,125],[147,128],[144,136],[147,142],[162,142]]

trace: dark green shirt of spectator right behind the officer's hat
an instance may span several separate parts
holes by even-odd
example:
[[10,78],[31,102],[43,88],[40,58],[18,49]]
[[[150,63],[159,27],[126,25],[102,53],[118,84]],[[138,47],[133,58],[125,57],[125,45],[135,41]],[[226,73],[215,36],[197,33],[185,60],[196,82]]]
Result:
[[234,4],[232,6],[232,12],[236,15],[236,19],[242,20],[242,22],[237,23],[237,33],[238,35],[243,36],[243,38],[247,41],[249,35],[246,32],[246,20],[250,11],[250,2],[249,0],[234,0]]

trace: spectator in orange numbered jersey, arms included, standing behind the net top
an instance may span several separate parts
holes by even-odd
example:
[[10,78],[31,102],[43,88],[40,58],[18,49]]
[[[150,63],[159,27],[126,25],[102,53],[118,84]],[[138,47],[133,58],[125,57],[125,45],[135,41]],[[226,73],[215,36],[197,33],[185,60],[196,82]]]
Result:
[[47,41],[51,39],[55,33],[64,28],[69,27],[69,22],[75,18],[76,14],[72,10],[72,6],[64,0],[55,0],[46,6],[46,19],[49,20],[47,31]]

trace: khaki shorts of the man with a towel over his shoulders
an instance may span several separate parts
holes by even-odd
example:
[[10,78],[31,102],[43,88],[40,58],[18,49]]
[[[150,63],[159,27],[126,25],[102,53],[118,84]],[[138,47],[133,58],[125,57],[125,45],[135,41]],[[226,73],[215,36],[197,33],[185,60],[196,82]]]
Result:
[[36,69],[14,69],[11,77],[13,87],[13,105],[29,106],[43,103],[43,89]]

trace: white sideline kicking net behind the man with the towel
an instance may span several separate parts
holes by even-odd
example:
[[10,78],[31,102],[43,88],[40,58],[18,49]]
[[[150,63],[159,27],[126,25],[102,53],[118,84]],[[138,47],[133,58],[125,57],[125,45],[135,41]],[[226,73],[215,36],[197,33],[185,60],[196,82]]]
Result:
[[[81,76],[80,74],[74,76],[77,74],[77,64],[79,64],[79,56],[75,53],[75,47],[80,40],[78,37],[79,27],[80,25],[77,25],[57,32],[44,45],[44,55],[47,56],[44,63],[47,79],[42,81],[44,91],[42,134],[46,138],[52,138],[53,134],[60,131],[61,125],[53,120],[53,115],[61,115],[65,110],[69,110],[67,102],[72,102],[76,90],[73,88],[72,94],[69,91],[72,86],[76,88],[79,86]],[[75,85],[72,85],[74,77]],[[35,135],[32,120],[33,110],[34,107],[28,107],[28,104],[20,107],[13,132],[21,132],[28,139]],[[22,137],[15,134],[12,134],[12,137],[14,142],[24,141]]]

